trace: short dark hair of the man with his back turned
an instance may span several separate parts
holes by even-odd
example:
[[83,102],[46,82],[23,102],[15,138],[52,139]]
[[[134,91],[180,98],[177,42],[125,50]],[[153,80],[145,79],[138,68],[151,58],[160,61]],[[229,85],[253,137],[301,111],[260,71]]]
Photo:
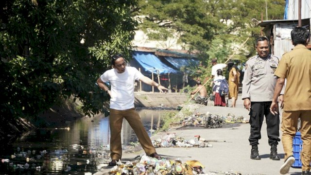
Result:
[[291,32],[291,37],[294,45],[307,44],[309,38],[309,31],[304,27],[295,27]]

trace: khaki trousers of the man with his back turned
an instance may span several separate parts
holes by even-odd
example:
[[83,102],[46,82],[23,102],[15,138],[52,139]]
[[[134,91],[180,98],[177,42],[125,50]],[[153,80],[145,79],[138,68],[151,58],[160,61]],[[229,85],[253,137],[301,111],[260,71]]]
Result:
[[282,143],[285,152],[284,160],[293,156],[293,137],[297,131],[298,118],[301,121],[300,133],[302,150],[300,153],[302,171],[310,171],[311,161],[311,110],[283,111]]

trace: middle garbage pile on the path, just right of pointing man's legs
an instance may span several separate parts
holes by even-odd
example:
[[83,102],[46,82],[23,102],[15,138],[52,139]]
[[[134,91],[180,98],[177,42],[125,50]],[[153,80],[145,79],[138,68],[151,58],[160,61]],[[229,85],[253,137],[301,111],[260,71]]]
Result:
[[213,147],[204,138],[195,136],[193,139],[185,140],[182,137],[176,137],[175,133],[164,135],[162,138],[158,138],[152,141],[155,148],[165,147]]

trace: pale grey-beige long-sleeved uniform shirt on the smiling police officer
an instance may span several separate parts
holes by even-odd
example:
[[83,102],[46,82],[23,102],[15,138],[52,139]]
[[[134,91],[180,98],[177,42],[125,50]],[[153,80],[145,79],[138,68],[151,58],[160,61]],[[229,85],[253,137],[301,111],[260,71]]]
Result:
[[276,86],[278,58],[269,54],[264,60],[258,55],[251,57],[245,65],[242,86],[242,99],[251,102],[271,102]]

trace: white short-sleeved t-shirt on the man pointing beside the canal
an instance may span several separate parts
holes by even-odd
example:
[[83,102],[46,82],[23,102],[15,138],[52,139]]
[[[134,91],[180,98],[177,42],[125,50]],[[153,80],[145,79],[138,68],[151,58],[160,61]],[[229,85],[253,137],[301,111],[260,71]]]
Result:
[[101,75],[103,82],[111,85],[110,108],[126,110],[134,107],[134,84],[143,75],[134,67],[126,67],[123,73],[111,69]]

